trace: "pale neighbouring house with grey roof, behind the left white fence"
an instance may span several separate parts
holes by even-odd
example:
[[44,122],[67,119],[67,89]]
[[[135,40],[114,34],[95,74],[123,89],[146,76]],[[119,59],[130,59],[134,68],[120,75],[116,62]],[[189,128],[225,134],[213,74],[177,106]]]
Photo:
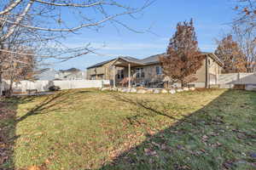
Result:
[[55,80],[84,80],[86,73],[76,68],[57,71]]

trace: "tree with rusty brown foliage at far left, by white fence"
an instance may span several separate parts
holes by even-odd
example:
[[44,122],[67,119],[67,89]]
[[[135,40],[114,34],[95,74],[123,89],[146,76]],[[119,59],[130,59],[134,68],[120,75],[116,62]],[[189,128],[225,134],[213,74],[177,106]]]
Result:
[[[3,31],[2,31],[3,32]],[[32,65],[36,63],[35,49],[39,50],[37,42],[38,36],[32,34],[22,27],[17,30],[2,43],[0,49],[0,94],[2,94],[3,78],[10,81],[9,92],[12,91],[14,81],[19,81],[28,77],[32,72]],[[31,68],[31,69],[30,69]]]

